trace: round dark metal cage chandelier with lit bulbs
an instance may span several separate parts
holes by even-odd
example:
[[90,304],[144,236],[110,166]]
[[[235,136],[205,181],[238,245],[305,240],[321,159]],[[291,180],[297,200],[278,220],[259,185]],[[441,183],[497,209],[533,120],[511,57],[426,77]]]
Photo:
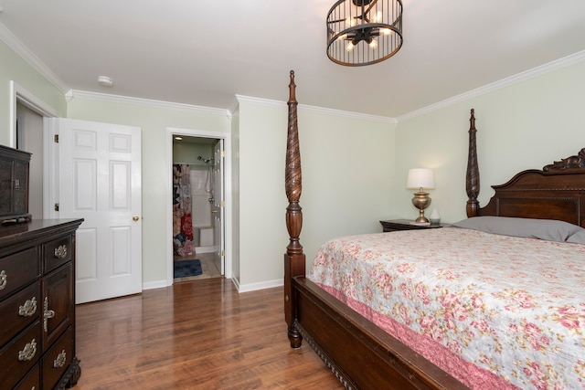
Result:
[[402,0],[339,0],[327,13],[327,57],[360,67],[402,47]]

